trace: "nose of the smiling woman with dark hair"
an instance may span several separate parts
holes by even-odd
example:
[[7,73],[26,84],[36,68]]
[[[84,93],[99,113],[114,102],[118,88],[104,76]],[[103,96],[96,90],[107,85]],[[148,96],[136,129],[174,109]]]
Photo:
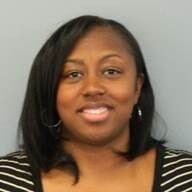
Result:
[[85,97],[102,96],[106,93],[106,87],[99,77],[88,77],[84,83]]

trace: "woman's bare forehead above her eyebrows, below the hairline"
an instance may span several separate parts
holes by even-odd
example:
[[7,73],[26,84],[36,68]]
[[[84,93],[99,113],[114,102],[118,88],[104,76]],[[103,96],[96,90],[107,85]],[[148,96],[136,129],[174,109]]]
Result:
[[130,54],[129,49],[128,43],[111,27],[94,27],[77,41],[68,57],[97,51]]

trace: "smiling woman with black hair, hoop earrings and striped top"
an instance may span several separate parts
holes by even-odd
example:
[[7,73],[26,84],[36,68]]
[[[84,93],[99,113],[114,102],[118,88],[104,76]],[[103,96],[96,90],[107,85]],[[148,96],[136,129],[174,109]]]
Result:
[[154,96],[121,24],[81,16],[38,53],[21,151],[0,160],[0,191],[192,191],[192,155],[151,137]]

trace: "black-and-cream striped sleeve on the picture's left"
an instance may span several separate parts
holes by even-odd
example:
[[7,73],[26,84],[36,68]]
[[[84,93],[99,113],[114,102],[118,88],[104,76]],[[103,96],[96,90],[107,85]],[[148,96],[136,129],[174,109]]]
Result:
[[15,152],[0,158],[0,192],[34,192],[27,156]]

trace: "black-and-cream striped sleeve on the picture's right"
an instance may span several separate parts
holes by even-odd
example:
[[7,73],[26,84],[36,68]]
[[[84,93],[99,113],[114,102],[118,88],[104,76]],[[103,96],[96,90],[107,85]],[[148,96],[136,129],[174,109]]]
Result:
[[160,185],[163,192],[192,192],[192,154],[167,148]]

